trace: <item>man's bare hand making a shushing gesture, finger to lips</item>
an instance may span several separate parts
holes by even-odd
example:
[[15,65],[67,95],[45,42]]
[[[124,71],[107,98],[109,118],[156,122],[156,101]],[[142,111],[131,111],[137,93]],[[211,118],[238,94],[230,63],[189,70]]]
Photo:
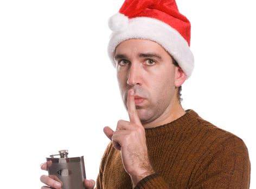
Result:
[[134,91],[129,90],[127,109],[130,122],[119,120],[116,131],[105,127],[104,133],[112,140],[114,148],[121,151],[125,171],[130,175],[133,185],[137,185],[154,171],[149,161],[145,129],[136,111],[134,95]]

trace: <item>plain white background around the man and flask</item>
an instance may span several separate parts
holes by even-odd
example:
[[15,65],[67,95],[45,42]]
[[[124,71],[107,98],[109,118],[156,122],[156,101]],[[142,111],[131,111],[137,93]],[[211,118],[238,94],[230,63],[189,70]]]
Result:
[[[254,1],[178,0],[190,19],[194,73],[183,107],[242,138],[255,183]],[[1,188],[40,188],[40,164],[68,149],[96,179],[127,114],[107,57],[108,17],[123,1],[0,1]]]

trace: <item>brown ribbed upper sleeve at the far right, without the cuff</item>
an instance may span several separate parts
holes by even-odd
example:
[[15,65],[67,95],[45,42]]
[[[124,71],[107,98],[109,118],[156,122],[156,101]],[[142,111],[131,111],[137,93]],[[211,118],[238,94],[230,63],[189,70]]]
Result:
[[200,172],[190,188],[249,188],[251,164],[244,141],[236,136],[226,139]]

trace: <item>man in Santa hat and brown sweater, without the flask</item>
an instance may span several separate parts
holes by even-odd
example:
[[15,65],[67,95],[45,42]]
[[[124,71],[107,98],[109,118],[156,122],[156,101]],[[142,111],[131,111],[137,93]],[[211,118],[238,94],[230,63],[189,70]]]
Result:
[[[104,128],[111,143],[96,187],[249,188],[244,142],[181,106],[194,57],[190,23],[175,1],[127,0],[109,25],[108,54],[130,120],[119,120],[116,131]],[[60,188],[47,176],[41,181]],[[85,180],[86,188],[94,185]]]

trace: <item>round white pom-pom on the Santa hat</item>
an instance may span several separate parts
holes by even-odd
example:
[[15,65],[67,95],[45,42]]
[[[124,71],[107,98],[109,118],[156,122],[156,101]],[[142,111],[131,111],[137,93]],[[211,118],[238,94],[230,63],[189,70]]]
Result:
[[129,18],[119,12],[108,19],[108,27],[112,31],[125,31],[128,28]]

